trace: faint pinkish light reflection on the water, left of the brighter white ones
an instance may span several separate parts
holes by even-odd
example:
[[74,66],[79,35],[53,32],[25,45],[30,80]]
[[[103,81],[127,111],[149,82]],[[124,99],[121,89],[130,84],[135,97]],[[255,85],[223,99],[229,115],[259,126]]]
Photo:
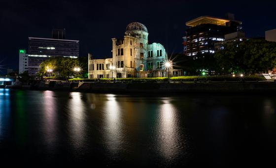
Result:
[[43,128],[45,132],[45,140],[48,145],[52,145],[56,141],[57,134],[57,105],[54,91],[43,92]]

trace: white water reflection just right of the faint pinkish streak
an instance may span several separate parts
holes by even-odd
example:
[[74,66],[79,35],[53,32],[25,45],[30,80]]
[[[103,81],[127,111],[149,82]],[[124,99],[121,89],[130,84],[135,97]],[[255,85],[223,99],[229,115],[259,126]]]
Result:
[[69,101],[70,138],[76,150],[85,146],[85,107],[81,93],[71,92]]

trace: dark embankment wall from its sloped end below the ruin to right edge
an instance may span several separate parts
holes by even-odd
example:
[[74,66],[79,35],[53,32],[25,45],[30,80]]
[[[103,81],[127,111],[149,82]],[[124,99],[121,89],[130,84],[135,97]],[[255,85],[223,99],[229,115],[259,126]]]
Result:
[[76,90],[104,93],[274,92],[276,83],[82,83]]

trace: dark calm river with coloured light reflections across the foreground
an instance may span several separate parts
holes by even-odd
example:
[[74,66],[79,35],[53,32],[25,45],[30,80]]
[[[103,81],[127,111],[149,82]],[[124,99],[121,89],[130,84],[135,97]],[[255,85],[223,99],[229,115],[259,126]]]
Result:
[[194,167],[276,161],[276,98],[0,88],[0,165]]

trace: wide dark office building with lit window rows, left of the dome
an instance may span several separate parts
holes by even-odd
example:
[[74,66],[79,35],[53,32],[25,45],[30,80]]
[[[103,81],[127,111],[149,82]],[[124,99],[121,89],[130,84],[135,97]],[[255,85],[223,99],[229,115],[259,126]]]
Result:
[[41,62],[50,57],[77,58],[79,56],[79,41],[29,37],[28,54],[28,73],[30,76],[35,76],[40,70]]

